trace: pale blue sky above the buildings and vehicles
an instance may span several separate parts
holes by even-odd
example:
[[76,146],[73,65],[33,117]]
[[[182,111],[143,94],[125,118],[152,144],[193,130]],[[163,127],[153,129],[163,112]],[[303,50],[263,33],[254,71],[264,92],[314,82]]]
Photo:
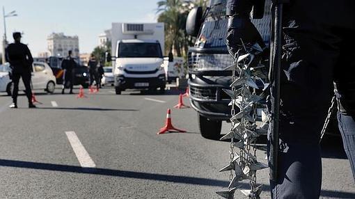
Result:
[[47,36],[54,32],[78,35],[80,53],[90,53],[98,45],[98,35],[110,29],[112,22],[156,22],[157,1],[1,0],[1,40],[3,6],[6,14],[16,10],[18,15],[6,17],[8,41],[13,42],[14,31],[23,32],[22,42],[29,45],[33,56],[47,50]]

